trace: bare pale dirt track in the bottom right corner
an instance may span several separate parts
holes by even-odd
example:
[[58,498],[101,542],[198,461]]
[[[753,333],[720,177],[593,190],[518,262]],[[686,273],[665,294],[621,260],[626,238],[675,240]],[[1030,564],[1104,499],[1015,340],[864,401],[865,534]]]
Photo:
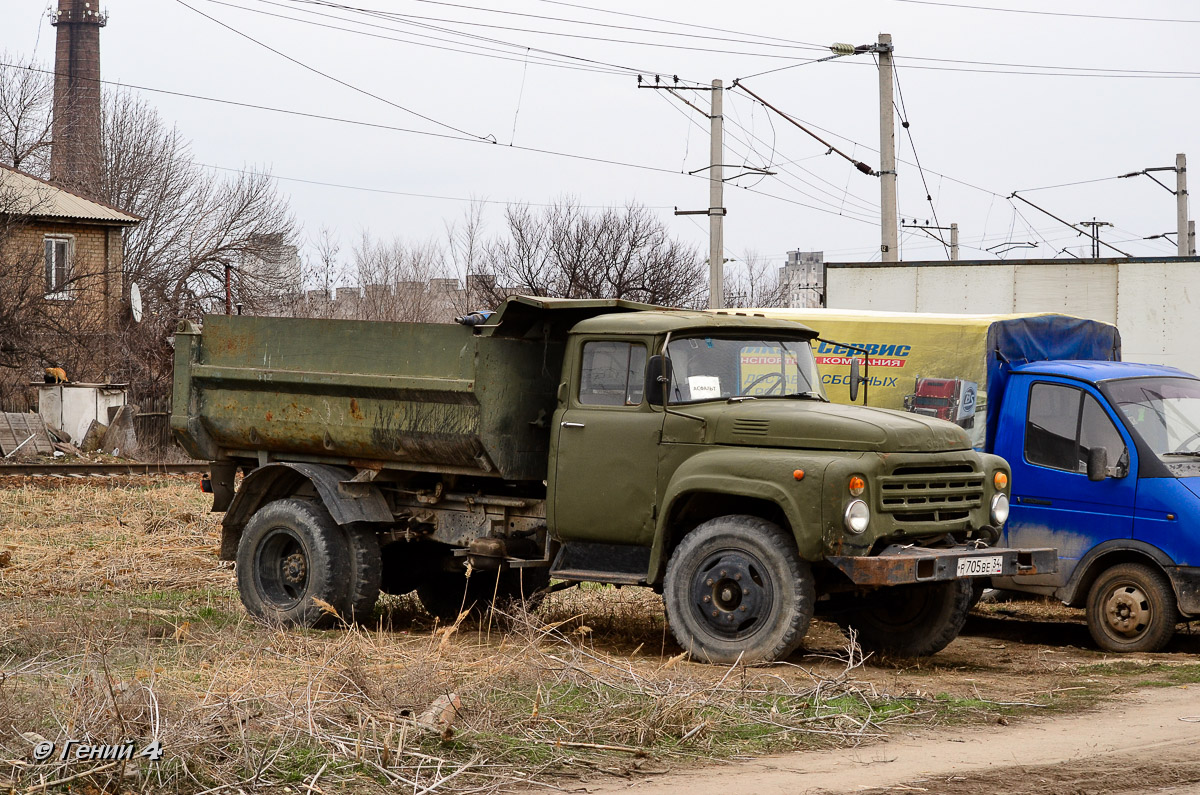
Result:
[[1195,688],[1177,686],[1049,719],[923,731],[863,748],[768,757],[586,791],[724,795],[733,775],[740,790],[764,795],[1194,793],[1200,788],[1198,746],[1200,698]]

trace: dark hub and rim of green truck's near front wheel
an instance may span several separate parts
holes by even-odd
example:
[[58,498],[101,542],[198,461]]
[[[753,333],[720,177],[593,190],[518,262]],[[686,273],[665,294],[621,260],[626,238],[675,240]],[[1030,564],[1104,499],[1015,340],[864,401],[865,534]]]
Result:
[[692,578],[692,603],[709,629],[738,638],[770,610],[772,588],[762,567],[744,552],[710,556]]

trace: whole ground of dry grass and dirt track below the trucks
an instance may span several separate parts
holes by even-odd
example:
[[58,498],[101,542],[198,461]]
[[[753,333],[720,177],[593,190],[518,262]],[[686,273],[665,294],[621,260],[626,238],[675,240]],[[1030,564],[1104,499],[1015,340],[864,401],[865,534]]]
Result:
[[[930,658],[863,660],[818,620],[782,663],[721,668],[685,658],[653,592],[588,587],[478,624],[389,597],[371,628],[281,630],[246,618],[208,500],[0,478],[0,791],[1200,791],[1186,627],[1121,657],[1081,611],[992,603]],[[452,731],[415,731],[448,693]],[[47,769],[34,733],[168,757]]]

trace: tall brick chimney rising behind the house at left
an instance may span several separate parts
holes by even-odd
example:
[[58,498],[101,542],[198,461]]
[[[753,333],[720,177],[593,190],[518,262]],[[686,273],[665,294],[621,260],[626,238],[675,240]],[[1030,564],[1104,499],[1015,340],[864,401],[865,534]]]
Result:
[[50,13],[58,29],[50,180],[92,198],[101,187],[100,29],[107,22],[97,0],[59,0]]

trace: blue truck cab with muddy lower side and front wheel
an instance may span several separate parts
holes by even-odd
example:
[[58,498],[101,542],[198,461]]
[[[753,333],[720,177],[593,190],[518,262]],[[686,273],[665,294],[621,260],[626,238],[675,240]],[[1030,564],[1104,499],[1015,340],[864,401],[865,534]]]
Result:
[[1102,648],[1162,648],[1200,617],[1200,379],[1123,361],[1004,365],[989,366],[988,416],[988,447],[1013,472],[1003,540],[1060,561],[992,585],[1085,608]]

